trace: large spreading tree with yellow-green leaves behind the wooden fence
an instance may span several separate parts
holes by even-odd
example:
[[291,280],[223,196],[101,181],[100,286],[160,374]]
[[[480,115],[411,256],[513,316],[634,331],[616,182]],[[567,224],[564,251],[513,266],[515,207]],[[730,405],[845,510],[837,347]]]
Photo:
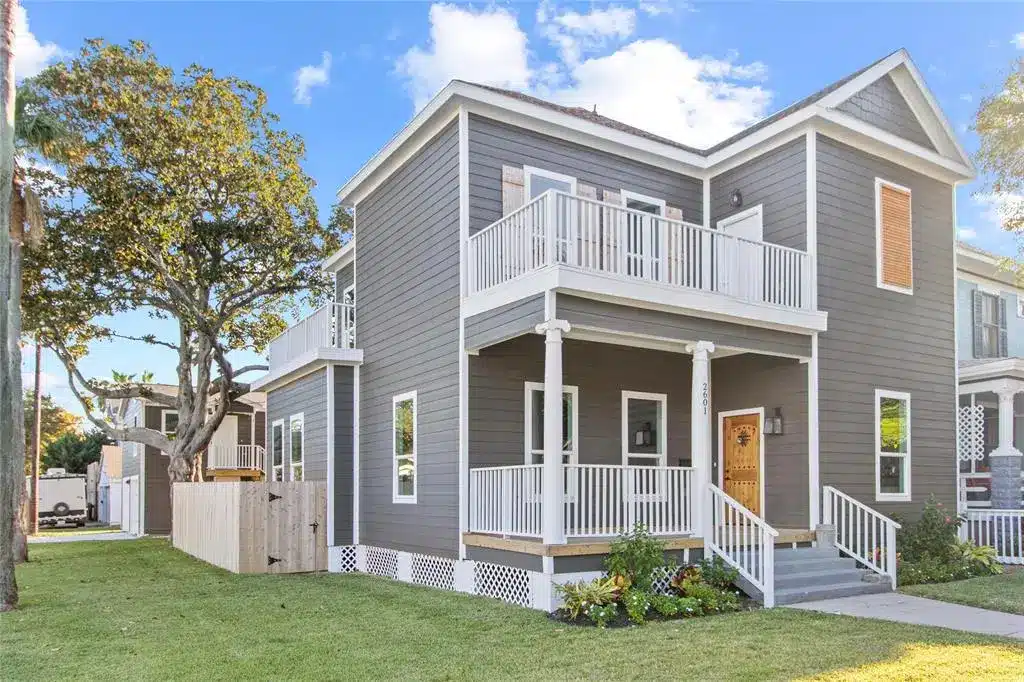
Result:
[[[175,73],[139,42],[89,41],[31,91],[69,139],[44,243],[28,260],[27,324],[97,428],[164,451],[171,480],[187,480],[241,390],[236,378],[263,369],[236,369],[229,352],[262,349],[303,296],[329,291],[319,263],[339,239],[317,220],[303,142],[276,126],[259,88],[196,65]],[[174,333],[105,322],[131,310]],[[177,394],[87,378],[79,361],[108,340],[170,349]],[[135,397],[177,410],[173,437],[97,411]]]

